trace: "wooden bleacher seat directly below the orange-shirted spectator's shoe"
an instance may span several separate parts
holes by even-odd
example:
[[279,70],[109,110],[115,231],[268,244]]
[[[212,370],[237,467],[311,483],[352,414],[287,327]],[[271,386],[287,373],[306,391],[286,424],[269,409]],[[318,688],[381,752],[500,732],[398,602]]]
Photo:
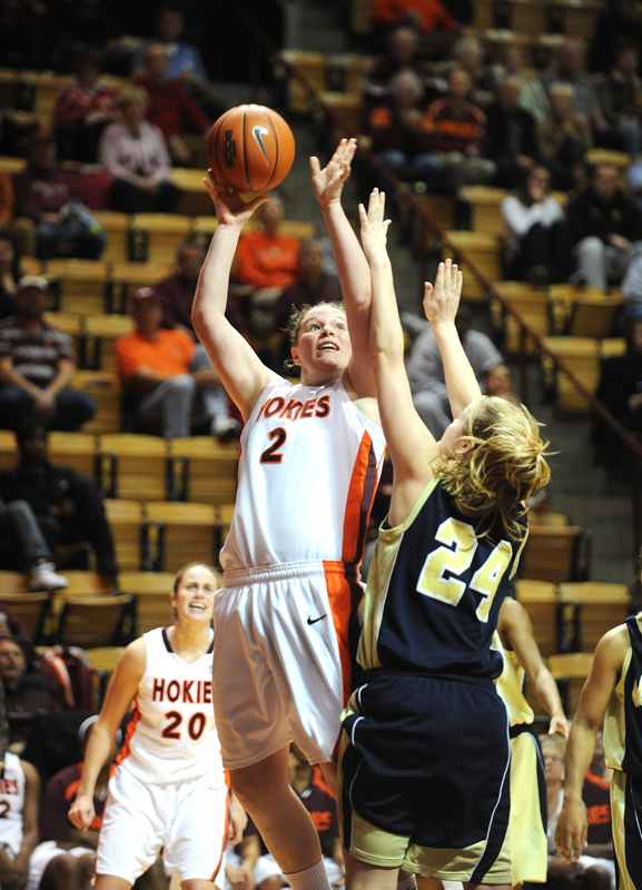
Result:
[[211,436],[175,438],[168,444],[169,476],[180,501],[228,504],[236,497],[238,445]]

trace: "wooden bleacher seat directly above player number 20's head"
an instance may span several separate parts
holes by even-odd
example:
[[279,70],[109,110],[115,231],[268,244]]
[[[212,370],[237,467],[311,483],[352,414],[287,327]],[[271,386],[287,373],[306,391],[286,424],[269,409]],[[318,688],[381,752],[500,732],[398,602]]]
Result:
[[211,504],[148,502],[146,511],[146,568],[177,572],[188,562],[216,562],[216,510]]

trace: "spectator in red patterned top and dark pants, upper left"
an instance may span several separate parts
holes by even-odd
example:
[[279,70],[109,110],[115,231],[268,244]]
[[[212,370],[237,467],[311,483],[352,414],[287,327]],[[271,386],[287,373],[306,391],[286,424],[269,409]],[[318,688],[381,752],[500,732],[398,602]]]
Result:
[[96,164],[102,130],[118,116],[116,87],[100,79],[100,57],[85,52],[78,77],[56,99],[53,126],[61,158]]

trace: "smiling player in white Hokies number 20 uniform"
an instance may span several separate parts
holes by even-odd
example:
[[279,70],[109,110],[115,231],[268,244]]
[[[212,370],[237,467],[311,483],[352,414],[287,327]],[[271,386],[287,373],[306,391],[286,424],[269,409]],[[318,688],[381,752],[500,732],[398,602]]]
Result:
[[96,862],[96,890],[128,890],[157,859],[182,890],[223,887],[227,840],[240,840],[211,708],[211,614],[215,572],[190,563],[176,576],[175,622],[130,643],[118,663],[87,751],[69,819],[95,815],[93,790],[120,722],[132,720],[108,785]]

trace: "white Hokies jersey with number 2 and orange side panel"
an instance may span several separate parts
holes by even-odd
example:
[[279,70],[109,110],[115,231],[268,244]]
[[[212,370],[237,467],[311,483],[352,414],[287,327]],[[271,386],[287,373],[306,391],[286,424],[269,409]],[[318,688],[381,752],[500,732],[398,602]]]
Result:
[[333,560],[359,563],[384,434],[340,380],[270,383],[240,438],[226,572]]

